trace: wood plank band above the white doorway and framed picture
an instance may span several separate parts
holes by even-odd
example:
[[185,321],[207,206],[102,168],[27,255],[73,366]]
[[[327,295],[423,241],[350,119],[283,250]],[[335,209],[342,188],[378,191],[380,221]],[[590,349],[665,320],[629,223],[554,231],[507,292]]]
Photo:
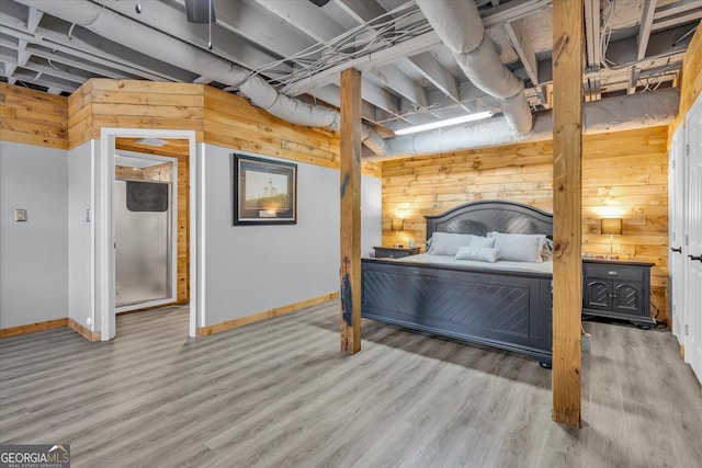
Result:
[[[68,98],[69,148],[102,127],[195,130],[207,142],[339,169],[336,132],[293,125],[242,98],[204,84],[93,79]],[[381,176],[378,162],[363,173]]]

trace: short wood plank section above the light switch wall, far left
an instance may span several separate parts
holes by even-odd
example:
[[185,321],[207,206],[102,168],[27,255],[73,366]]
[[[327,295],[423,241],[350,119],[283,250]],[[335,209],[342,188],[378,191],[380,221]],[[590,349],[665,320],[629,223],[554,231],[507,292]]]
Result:
[[0,82],[0,139],[68,148],[68,99]]

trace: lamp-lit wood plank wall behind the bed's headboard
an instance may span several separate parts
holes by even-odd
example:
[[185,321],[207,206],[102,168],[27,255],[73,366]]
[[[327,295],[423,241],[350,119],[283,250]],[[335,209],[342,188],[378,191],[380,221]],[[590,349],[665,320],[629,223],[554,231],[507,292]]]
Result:
[[[650,261],[659,319],[668,319],[668,126],[584,136],[582,252],[607,254],[602,217],[622,217],[621,259]],[[383,162],[383,243],[426,237],[423,215],[476,199],[511,199],[553,212],[551,141],[465,150]]]

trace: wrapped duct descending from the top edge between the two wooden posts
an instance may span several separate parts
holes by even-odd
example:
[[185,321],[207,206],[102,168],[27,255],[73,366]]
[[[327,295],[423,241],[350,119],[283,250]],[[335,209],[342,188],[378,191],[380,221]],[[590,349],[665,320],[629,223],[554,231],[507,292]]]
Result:
[[524,83],[500,60],[473,0],[416,0],[471,82],[497,98],[509,130],[529,135],[532,115]]

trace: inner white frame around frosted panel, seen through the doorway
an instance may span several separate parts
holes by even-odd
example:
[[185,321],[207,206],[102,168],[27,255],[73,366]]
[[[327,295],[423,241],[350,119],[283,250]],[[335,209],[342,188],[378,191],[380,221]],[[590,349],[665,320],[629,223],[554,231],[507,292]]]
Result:
[[[145,159],[147,161],[155,162],[170,162],[172,165],[172,176],[169,183],[169,217],[168,217],[168,285],[169,295],[162,299],[151,299],[144,303],[127,304],[124,306],[117,306],[115,304],[115,312],[126,312],[129,310],[143,309],[145,307],[157,307],[166,304],[172,304],[178,300],[178,158],[169,156],[148,155],[145,152],[116,150],[115,155],[118,157],[128,157],[135,159]],[[116,165],[116,162],[115,162]],[[124,180],[116,179],[115,182]],[[113,205],[114,209],[114,205]],[[115,222],[115,231],[117,229],[116,219],[113,213],[113,222]],[[116,251],[116,247],[115,247]],[[116,266],[116,265],[115,265]],[[116,281],[116,279],[115,279]]]

